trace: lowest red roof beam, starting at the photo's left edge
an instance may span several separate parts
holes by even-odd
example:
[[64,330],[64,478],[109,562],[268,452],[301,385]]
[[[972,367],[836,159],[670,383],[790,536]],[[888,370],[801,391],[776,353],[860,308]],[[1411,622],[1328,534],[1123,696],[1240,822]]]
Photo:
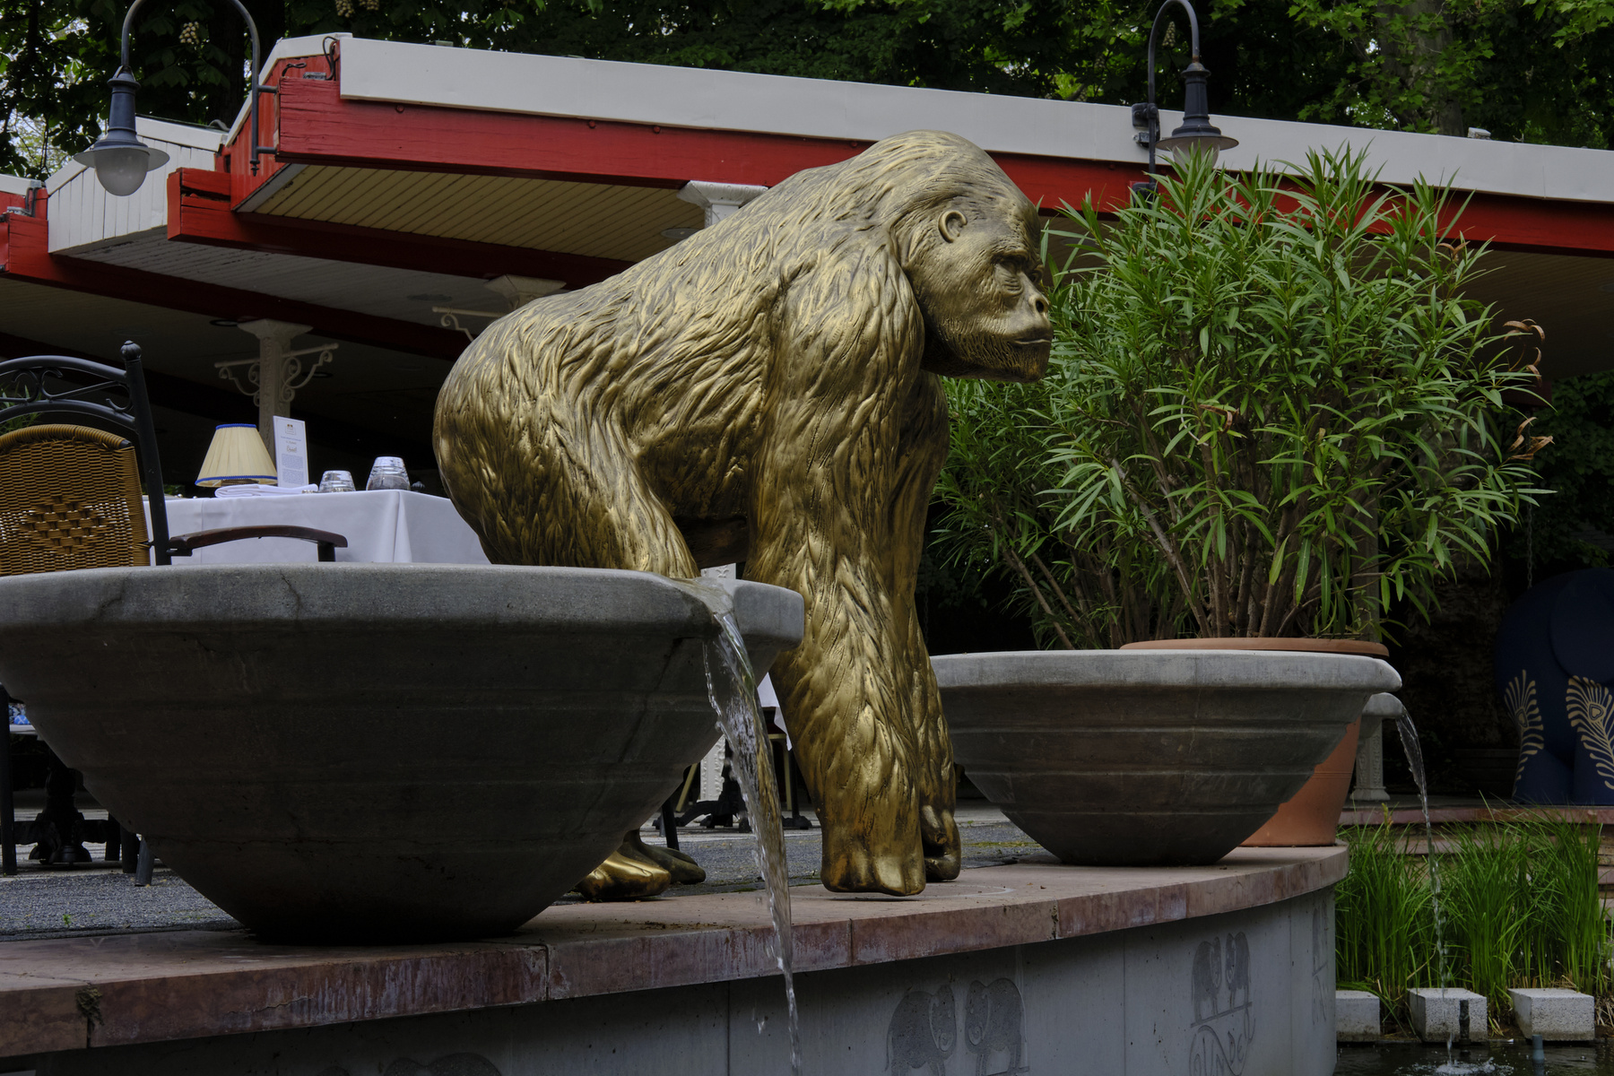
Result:
[[0,216],[0,276],[66,287],[90,295],[128,298],[166,310],[184,310],[208,318],[295,321],[313,326],[315,332],[339,340],[371,344],[450,361],[458,358],[466,344],[463,334],[436,326],[52,255],[47,253],[45,245],[45,221],[16,213]]

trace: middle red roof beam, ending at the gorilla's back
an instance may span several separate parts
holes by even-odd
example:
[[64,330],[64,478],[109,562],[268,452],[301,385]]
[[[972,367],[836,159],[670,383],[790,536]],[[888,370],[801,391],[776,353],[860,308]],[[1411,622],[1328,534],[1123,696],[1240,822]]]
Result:
[[231,211],[231,176],[181,168],[168,173],[168,237],[178,242],[289,253],[329,261],[384,265],[492,279],[507,273],[565,281],[573,290],[626,269],[631,261],[413,236],[379,227]]

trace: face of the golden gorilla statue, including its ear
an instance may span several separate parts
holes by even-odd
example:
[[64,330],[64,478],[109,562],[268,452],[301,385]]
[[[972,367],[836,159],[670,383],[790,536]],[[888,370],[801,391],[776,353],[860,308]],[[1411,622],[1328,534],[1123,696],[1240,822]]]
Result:
[[[968,208],[968,206],[964,206]],[[920,227],[905,266],[925,311],[922,366],[947,377],[1036,381],[1047,371],[1052,326],[1031,242],[1036,211],[944,206]]]

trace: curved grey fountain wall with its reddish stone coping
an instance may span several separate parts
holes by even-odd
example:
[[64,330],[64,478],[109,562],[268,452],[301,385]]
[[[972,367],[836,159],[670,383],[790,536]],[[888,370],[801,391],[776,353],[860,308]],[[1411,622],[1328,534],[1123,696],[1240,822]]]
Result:
[[[804,1071],[1325,1076],[1344,866],[1341,847],[1240,849],[1198,868],[1031,860],[918,897],[792,889]],[[452,945],[6,942],[0,1058],[39,1076],[786,1073],[770,937],[744,892],[560,905]]]

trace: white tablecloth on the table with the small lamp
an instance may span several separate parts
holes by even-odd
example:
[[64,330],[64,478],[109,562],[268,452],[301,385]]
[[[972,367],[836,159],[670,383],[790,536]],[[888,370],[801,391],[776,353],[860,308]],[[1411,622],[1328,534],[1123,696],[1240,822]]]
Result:
[[[218,528],[292,524],[331,531],[347,539],[337,561],[486,565],[476,534],[447,497],[407,489],[295,497],[195,497],[169,500],[168,532],[190,534]],[[174,565],[279,565],[318,560],[313,542],[245,539],[174,557]]]

